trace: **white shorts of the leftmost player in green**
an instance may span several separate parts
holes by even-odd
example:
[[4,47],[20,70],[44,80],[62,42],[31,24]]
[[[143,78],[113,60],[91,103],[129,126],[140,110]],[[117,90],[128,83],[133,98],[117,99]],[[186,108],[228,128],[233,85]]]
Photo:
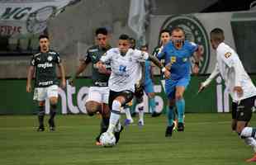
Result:
[[46,98],[58,97],[58,86],[51,85],[50,87],[36,87],[33,100],[45,101]]

